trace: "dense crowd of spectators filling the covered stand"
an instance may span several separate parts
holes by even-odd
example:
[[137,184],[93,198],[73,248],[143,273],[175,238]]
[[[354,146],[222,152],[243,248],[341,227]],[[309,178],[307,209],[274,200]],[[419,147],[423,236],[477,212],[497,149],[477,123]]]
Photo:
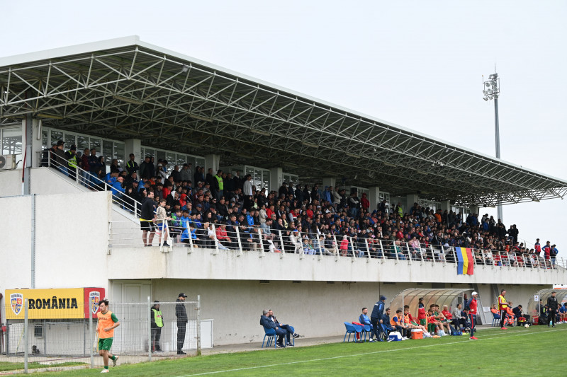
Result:
[[250,175],[193,169],[191,163],[174,166],[168,174],[168,162],[155,163],[150,156],[138,164],[130,154],[124,168],[116,159],[107,168],[95,149],[81,156],[75,146],[63,152],[63,144],[51,149],[60,170],[66,167],[70,175],[74,162],[69,156],[76,156],[84,185],[104,190],[105,182],[132,211],[154,192],[155,209],[160,199],[166,200],[173,238],[197,247],[214,245],[216,237],[220,248],[239,248],[238,228],[244,250],[454,262],[452,248],[463,247],[474,250],[477,265],[517,267],[554,267],[558,253],[556,245],[548,241],[542,247],[539,239],[528,248],[519,242],[515,224],[507,228],[488,214],[464,216],[417,203],[403,211],[400,203],[390,206],[386,200],[373,209],[366,194],[359,198],[339,185],[283,182],[278,191],[268,192],[252,185]]

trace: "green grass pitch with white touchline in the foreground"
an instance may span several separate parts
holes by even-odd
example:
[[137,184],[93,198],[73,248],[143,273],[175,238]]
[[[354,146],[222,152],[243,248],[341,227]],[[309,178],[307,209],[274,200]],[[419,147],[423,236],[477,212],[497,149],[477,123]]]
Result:
[[[567,325],[490,329],[468,337],[381,343],[334,343],[264,349],[111,367],[112,376],[563,376]],[[298,343],[300,343],[298,341]],[[101,369],[49,373],[96,376]]]

